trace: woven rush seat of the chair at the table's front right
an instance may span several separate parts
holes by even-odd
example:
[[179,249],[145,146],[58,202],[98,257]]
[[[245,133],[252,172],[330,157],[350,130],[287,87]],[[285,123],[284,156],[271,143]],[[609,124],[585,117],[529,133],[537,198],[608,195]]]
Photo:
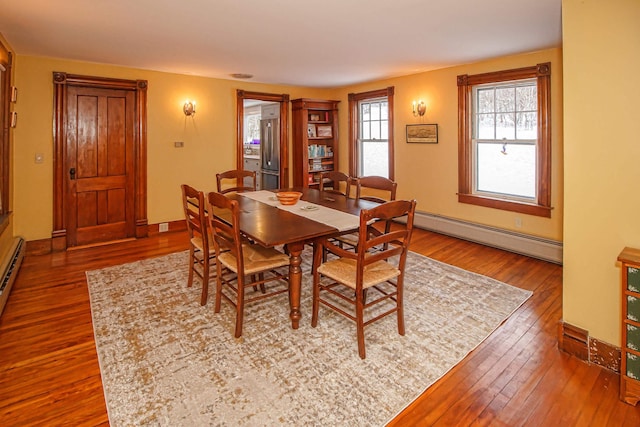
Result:
[[[338,258],[325,262],[318,267],[318,272],[343,283],[350,288],[356,288],[357,262],[355,259]],[[377,261],[364,267],[362,288],[370,288],[400,275],[400,270],[386,261]]]

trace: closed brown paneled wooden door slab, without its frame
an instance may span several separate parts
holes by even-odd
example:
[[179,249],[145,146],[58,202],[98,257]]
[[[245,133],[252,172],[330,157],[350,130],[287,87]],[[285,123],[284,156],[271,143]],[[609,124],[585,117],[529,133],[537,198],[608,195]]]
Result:
[[71,87],[67,92],[67,245],[135,236],[135,93]]

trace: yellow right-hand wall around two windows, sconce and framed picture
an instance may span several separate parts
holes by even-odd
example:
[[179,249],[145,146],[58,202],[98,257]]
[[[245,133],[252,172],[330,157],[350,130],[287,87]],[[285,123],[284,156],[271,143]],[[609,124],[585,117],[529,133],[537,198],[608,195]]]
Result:
[[[458,203],[458,87],[460,74],[478,74],[551,62],[552,97],[552,206],[551,218],[540,218]],[[347,95],[395,87],[395,178],[398,197],[416,198],[417,210],[507,230],[562,240],[562,50],[549,49],[526,55],[447,68],[407,77],[352,86],[336,91],[341,102],[341,168],[347,172]],[[423,119],[412,113],[412,102],[427,104]],[[405,125],[437,123],[438,144],[407,144]],[[522,227],[515,227],[515,219]]]

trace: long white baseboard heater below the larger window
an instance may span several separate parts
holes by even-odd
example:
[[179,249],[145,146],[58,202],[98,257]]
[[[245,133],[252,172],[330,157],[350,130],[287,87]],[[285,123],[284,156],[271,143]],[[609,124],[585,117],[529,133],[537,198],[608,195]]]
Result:
[[416,212],[414,225],[436,233],[562,264],[562,242],[556,240],[516,233],[426,212]]

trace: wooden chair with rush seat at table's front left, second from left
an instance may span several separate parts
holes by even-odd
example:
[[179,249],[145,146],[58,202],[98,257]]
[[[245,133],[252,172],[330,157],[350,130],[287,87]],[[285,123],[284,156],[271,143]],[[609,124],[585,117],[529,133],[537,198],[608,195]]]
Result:
[[[245,304],[289,291],[289,257],[242,237],[236,200],[211,192],[207,195],[207,206],[217,259],[214,311],[220,312],[222,298],[231,303],[236,310],[235,337],[238,338],[242,335]],[[286,271],[279,271],[285,268]],[[268,289],[267,283],[274,286]],[[247,287],[254,288],[250,297],[245,293]]]

